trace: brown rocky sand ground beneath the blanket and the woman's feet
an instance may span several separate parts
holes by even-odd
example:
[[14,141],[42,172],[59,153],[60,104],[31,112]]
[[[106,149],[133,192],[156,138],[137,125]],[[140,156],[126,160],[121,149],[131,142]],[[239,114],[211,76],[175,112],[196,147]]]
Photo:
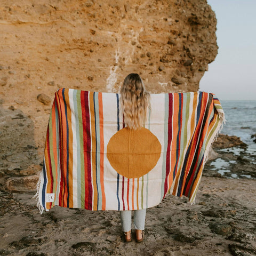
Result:
[[147,210],[145,241],[123,243],[117,211],[54,207],[1,193],[0,255],[255,255],[256,180],[203,177],[196,204],[167,196]]

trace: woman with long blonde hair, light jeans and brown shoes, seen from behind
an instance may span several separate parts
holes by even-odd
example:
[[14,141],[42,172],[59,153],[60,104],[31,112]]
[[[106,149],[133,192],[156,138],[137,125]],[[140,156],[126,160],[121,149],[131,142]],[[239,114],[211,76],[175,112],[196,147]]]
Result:
[[[145,124],[147,109],[150,106],[150,94],[138,74],[125,77],[121,87],[121,109],[125,125],[129,129],[140,129]],[[132,211],[120,211],[124,241],[131,242]],[[134,211],[134,227],[136,242],[143,241],[145,228],[146,209]]]

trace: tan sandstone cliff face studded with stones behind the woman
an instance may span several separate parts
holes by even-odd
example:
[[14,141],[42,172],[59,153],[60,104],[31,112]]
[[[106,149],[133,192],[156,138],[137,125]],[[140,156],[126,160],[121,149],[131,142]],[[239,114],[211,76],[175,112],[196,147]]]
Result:
[[150,93],[197,91],[217,55],[206,0],[3,0],[0,12],[0,185],[12,191],[35,185],[59,88],[118,92],[139,73]]

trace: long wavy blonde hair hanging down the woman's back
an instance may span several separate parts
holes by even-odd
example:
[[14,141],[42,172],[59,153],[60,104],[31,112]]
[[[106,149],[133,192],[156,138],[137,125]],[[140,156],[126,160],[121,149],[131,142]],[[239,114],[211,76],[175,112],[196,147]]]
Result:
[[127,127],[134,130],[142,127],[147,119],[147,109],[150,107],[150,94],[138,74],[132,73],[125,77],[120,100]]

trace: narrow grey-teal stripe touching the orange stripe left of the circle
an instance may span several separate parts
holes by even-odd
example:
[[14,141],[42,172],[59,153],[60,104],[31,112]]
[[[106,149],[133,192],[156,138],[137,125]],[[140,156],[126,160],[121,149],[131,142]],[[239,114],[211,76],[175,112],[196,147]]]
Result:
[[98,209],[102,209],[102,195],[100,186],[100,118],[99,118],[99,93],[94,93],[95,139],[96,139],[96,183],[98,190]]

